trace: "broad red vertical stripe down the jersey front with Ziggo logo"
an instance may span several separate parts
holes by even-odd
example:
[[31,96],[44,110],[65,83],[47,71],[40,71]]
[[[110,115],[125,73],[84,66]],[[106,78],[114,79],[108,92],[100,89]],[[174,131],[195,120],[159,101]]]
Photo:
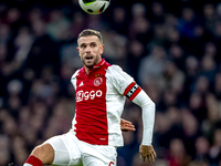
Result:
[[108,63],[99,65],[94,68],[88,75],[81,70],[76,76],[75,132],[81,141],[95,145],[108,145],[105,77]]

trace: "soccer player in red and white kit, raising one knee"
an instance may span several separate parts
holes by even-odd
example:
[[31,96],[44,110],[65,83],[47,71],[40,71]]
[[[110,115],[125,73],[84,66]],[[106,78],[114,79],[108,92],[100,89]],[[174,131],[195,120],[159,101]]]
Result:
[[122,131],[134,131],[129,122],[120,122],[126,97],[143,110],[140,158],[155,162],[151,146],[155,103],[131,76],[102,59],[101,32],[82,31],[77,50],[84,66],[71,79],[76,105],[72,128],[36,146],[23,166],[116,166],[116,148],[124,145]]

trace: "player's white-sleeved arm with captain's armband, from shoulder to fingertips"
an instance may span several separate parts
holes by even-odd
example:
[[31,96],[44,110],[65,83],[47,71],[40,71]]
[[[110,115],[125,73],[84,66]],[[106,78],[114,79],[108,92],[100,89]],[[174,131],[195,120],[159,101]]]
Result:
[[119,66],[112,65],[108,68],[107,75],[110,80],[110,84],[119,94],[127,96],[131,102],[141,107],[144,128],[139,153],[144,160],[147,158],[148,162],[154,162],[157,156],[154,147],[151,146],[155,123],[155,103],[145,93],[145,91],[136,84],[134,79],[124,72]]

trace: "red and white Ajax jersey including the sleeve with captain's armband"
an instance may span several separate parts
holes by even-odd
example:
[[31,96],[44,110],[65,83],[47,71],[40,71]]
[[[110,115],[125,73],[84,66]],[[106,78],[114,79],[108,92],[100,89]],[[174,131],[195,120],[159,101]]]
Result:
[[87,75],[84,68],[72,79],[76,110],[72,128],[78,139],[95,145],[123,146],[120,116],[126,96],[133,101],[141,89],[118,65],[104,59]]

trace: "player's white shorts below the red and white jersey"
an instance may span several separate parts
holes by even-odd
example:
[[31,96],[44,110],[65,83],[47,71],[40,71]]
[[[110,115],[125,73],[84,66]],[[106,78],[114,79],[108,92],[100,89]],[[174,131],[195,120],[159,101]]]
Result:
[[54,148],[53,165],[116,166],[116,147],[87,144],[80,141],[73,131],[54,136],[44,143],[49,143]]

